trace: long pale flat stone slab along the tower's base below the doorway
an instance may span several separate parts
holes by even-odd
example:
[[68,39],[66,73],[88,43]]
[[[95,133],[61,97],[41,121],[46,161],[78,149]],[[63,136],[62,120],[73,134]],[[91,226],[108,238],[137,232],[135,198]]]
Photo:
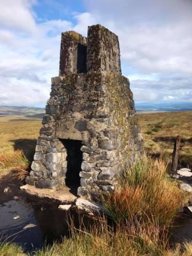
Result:
[[61,189],[37,189],[37,187],[25,185],[20,189],[30,195],[35,195],[39,198],[54,199],[61,203],[71,204],[74,203],[77,197],[70,192],[69,187],[62,187]]

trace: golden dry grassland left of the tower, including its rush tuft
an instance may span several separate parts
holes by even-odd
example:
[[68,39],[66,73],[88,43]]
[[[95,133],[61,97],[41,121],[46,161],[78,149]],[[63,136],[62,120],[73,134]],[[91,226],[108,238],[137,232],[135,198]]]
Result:
[[33,160],[40,127],[40,119],[22,116],[0,118],[0,175],[13,170],[15,177],[25,178]]

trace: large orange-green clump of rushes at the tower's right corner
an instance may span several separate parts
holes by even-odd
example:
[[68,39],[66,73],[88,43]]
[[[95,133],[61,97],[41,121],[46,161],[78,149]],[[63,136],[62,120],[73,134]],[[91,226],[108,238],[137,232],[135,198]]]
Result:
[[121,178],[121,186],[103,199],[110,218],[116,223],[139,218],[169,225],[186,201],[177,183],[167,177],[161,159],[143,157]]

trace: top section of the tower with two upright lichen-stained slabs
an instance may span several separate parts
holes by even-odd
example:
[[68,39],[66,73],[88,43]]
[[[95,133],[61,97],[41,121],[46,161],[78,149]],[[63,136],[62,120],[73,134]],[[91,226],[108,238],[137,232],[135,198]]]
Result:
[[62,33],[59,75],[94,71],[121,74],[118,36],[101,25],[89,26],[87,38]]

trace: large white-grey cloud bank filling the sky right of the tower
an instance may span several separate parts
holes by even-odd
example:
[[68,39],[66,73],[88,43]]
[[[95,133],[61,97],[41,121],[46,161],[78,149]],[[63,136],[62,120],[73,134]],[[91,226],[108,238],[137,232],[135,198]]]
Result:
[[178,100],[192,97],[191,0],[84,2],[97,22],[119,36],[123,73],[136,101],[169,100],[174,93]]

